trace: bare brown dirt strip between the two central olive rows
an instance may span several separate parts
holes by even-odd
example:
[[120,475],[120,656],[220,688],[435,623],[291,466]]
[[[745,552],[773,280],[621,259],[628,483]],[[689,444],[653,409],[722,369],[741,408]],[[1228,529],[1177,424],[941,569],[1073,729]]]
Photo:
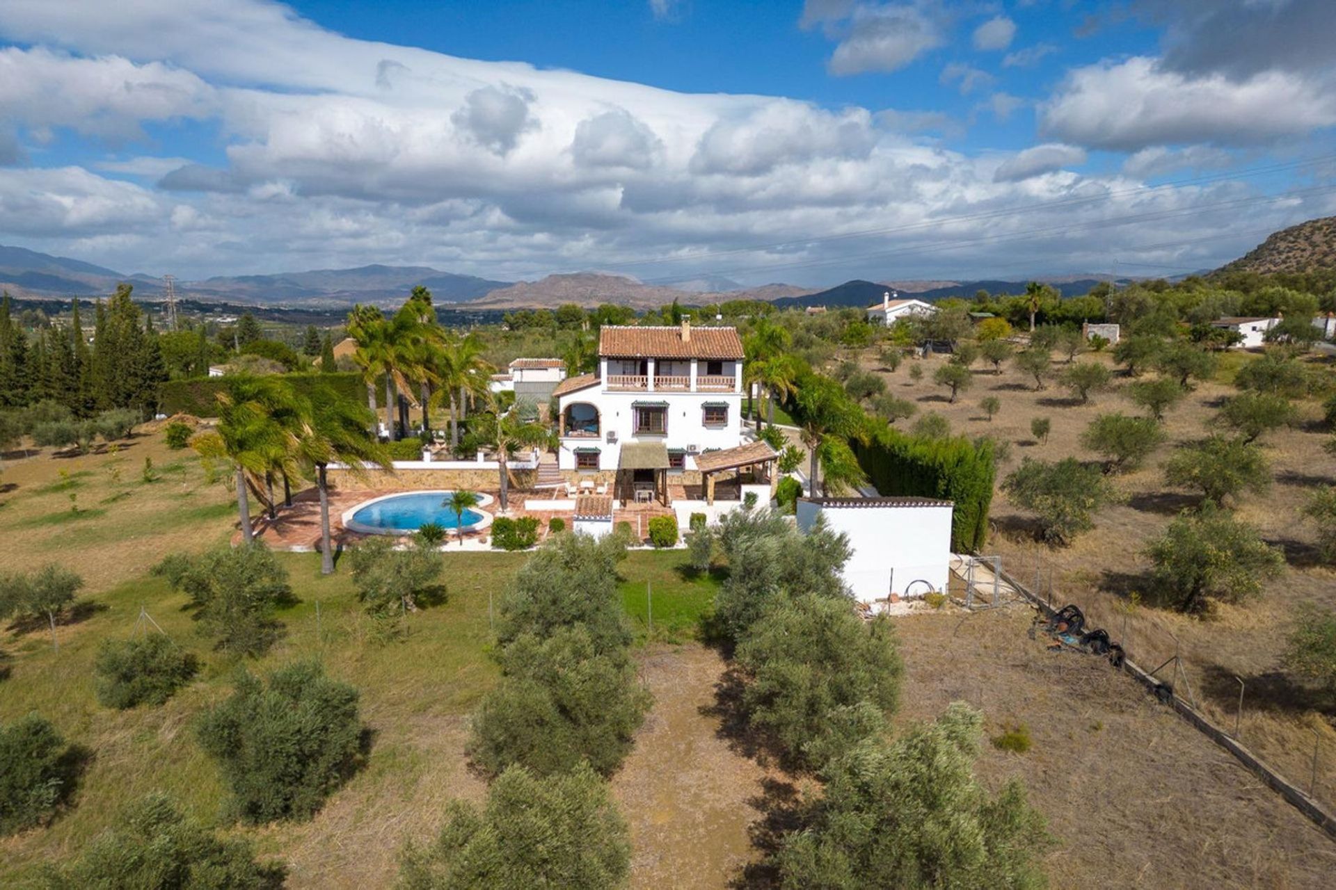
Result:
[[631,823],[631,883],[728,886],[755,858],[748,826],[767,773],[719,731],[715,685],[725,664],[691,643],[648,651],[640,670],[655,707],[612,783]]

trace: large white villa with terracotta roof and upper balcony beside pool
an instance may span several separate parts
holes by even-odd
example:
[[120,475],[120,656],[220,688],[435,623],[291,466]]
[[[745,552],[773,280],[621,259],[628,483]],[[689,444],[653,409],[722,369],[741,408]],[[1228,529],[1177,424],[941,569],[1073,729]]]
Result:
[[[669,480],[697,484],[696,458],[740,448],[743,342],[732,327],[604,326],[599,371],[566,378],[557,466],[568,480],[612,483],[621,500],[665,502]],[[766,464],[774,452],[740,454]]]

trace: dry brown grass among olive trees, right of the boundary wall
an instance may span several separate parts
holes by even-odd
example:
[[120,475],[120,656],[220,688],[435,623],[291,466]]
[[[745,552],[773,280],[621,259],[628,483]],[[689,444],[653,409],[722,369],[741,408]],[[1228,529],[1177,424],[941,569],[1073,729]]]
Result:
[[[1221,379],[1200,384],[1169,411],[1165,422],[1169,442],[1152,455],[1144,468],[1117,478],[1126,500],[1101,511],[1093,531],[1077,538],[1070,547],[1039,546],[1030,534],[1025,512],[1013,507],[999,491],[993,502],[989,550],[1001,554],[1003,566],[1022,582],[1033,584],[1038,575],[1043,590],[1051,583],[1054,600],[1078,603],[1116,639],[1126,635],[1129,652],[1146,670],[1174,654],[1177,636],[1189,685],[1198,703],[1218,725],[1233,726],[1238,697],[1238,683],[1233,678],[1242,678],[1248,683],[1241,730],[1244,743],[1291,781],[1307,787],[1315,738],[1320,738],[1316,794],[1328,806],[1336,806],[1336,729],[1332,723],[1336,702],[1292,683],[1280,670],[1295,607],[1303,602],[1336,607],[1336,572],[1317,562],[1313,530],[1299,512],[1313,486],[1336,482],[1336,460],[1323,451],[1329,434],[1317,423],[1320,408],[1316,402],[1301,404],[1303,423],[1297,427],[1273,432],[1264,440],[1275,484],[1265,494],[1246,495],[1237,508],[1240,519],[1257,526],[1268,542],[1284,548],[1289,563],[1285,574],[1267,586],[1261,599],[1222,606],[1205,620],[1145,602],[1150,599],[1150,586],[1146,578],[1149,562],[1142,550],[1162,534],[1180,510],[1197,503],[1190,492],[1164,484],[1160,464],[1174,444],[1210,431],[1209,420],[1220,399],[1236,392],[1224,380],[1232,379],[1238,364],[1249,358],[1237,352],[1228,355]],[[929,410],[942,414],[955,432],[993,435],[1010,442],[1011,455],[999,467],[999,483],[1023,456],[1096,459],[1079,443],[1086,424],[1106,411],[1138,412],[1121,392],[1128,383],[1121,376],[1116,378],[1113,391],[1097,394],[1090,404],[1081,406],[1051,382],[1046,390],[1035,392],[1033,380],[1009,368],[999,376],[991,371],[975,371],[973,388],[962,394],[957,404],[949,404],[942,395],[943,388],[931,384],[933,368],[943,360],[941,356],[923,360],[925,379],[919,383],[910,380],[906,372],[910,363],[906,362],[896,374],[884,375],[890,391],[914,400],[921,414]],[[1106,355],[1078,360],[1110,362]],[[875,367],[871,355],[863,362]],[[1057,360],[1054,368],[1061,367],[1062,362]],[[1002,410],[991,423],[977,407],[986,395],[1002,402]],[[1053,422],[1046,443],[1038,443],[1030,435],[1030,420],[1037,416]],[[1142,596],[1144,604],[1125,618],[1133,592]]]

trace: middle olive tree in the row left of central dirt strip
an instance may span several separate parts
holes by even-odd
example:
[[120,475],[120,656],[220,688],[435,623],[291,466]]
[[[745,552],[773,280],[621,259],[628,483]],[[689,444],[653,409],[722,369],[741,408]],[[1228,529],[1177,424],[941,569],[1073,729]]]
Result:
[[473,717],[468,751],[478,767],[552,775],[588,762],[611,775],[621,766],[652,701],[625,648],[600,650],[588,628],[570,626],[518,636],[500,660],[504,677]]

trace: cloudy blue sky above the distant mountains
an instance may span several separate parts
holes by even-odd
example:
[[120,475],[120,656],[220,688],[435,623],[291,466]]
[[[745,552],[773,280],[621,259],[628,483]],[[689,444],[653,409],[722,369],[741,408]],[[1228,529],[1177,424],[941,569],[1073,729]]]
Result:
[[1336,212],[1329,0],[7,0],[0,243],[744,284],[1209,268]]

